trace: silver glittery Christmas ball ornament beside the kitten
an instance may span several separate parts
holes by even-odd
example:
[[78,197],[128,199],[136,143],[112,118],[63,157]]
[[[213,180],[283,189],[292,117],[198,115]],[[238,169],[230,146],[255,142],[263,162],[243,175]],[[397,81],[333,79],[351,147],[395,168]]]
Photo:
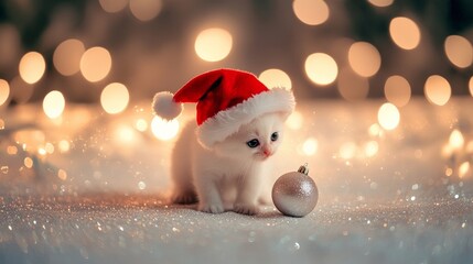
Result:
[[272,201],[283,215],[304,217],[315,208],[319,190],[308,174],[308,164],[304,164],[298,172],[279,177],[272,186]]

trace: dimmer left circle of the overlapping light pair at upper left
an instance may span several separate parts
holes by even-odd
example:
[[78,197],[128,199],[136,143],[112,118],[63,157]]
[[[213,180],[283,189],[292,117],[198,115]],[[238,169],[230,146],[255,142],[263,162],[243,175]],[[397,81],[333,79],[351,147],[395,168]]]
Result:
[[69,38],[62,42],[53,54],[54,67],[64,76],[75,75],[80,70],[84,52],[84,43],[79,40]]

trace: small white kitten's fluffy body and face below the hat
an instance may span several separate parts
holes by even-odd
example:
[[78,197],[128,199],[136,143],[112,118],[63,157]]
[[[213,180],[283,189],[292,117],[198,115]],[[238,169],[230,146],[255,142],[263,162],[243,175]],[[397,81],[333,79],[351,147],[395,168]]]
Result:
[[212,148],[197,142],[197,125],[189,122],[172,154],[173,201],[198,200],[204,212],[257,213],[268,158],[280,145],[284,120],[282,113],[264,114]]

